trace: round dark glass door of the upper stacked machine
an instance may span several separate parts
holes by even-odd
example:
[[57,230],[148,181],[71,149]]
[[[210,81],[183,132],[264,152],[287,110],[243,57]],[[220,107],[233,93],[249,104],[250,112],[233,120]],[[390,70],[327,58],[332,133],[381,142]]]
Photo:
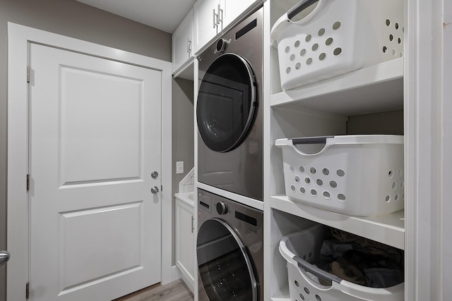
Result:
[[198,92],[196,118],[206,146],[229,152],[239,146],[254,123],[256,80],[248,61],[223,54],[209,66]]

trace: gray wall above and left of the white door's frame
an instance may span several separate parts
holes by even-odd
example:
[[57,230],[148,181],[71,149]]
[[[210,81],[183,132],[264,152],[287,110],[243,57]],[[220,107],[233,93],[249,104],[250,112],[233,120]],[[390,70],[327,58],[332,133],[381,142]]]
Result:
[[[171,61],[171,35],[153,27],[73,0],[0,0],[0,250],[6,249],[7,22]],[[6,300],[5,269],[0,301]]]

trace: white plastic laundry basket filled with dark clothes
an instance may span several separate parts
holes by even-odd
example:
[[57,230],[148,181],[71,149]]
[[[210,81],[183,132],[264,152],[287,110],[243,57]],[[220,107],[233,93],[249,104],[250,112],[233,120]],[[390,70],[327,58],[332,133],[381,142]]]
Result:
[[[287,261],[291,301],[404,300],[404,283],[390,288],[369,288],[343,280],[315,266],[313,263],[319,259],[327,233],[328,228],[319,224],[280,240],[279,250]],[[331,285],[322,285],[319,278]]]

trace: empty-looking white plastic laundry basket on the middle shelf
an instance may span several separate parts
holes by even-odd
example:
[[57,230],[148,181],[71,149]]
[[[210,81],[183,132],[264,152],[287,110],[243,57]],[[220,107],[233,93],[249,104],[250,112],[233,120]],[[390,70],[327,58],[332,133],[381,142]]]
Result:
[[404,207],[403,136],[278,139],[275,145],[283,150],[285,192],[292,201],[355,216]]

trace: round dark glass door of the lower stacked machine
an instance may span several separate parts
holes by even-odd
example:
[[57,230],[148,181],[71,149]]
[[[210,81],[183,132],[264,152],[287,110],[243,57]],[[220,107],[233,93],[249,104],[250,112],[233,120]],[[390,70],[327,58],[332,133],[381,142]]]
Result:
[[225,221],[209,219],[202,224],[196,255],[200,281],[210,301],[258,300],[251,258]]

